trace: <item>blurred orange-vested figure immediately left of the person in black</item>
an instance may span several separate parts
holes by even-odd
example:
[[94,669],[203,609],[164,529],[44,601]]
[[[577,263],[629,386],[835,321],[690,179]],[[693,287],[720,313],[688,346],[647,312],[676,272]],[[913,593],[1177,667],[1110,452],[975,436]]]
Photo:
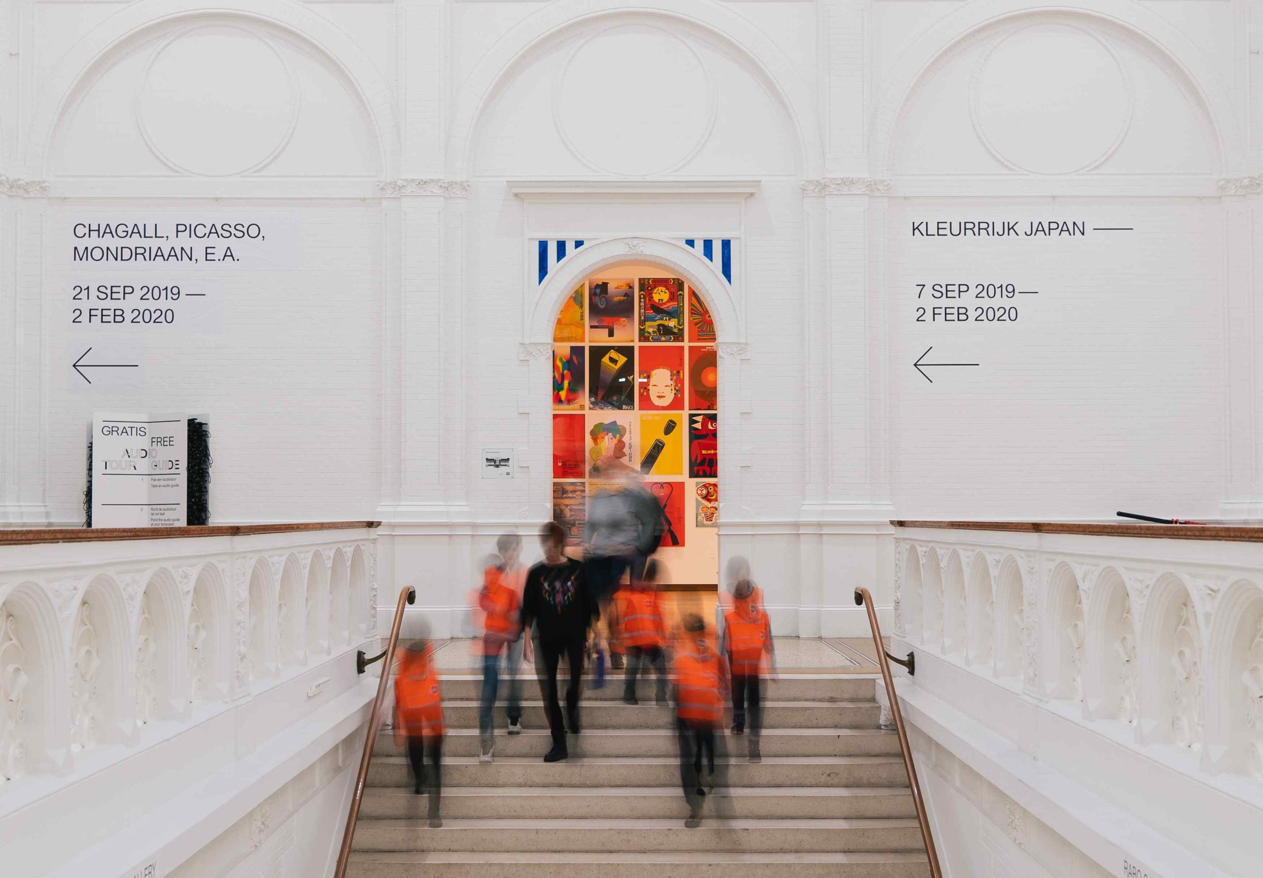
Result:
[[505,696],[509,734],[522,733],[522,590],[525,568],[519,563],[522,537],[501,534],[496,541],[499,558],[482,571],[482,587],[475,600],[476,615],[482,618],[482,696],[479,704],[479,762],[491,762],[495,754],[495,699],[500,689],[500,656],[504,654]]

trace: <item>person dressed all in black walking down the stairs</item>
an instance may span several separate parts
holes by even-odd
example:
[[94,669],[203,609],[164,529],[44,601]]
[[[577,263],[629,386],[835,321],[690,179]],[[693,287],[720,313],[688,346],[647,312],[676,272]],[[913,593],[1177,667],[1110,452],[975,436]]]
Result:
[[[527,658],[532,659],[532,633],[538,640],[539,659],[536,671],[552,733],[552,749],[544,762],[558,762],[570,755],[566,729],[578,734],[578,687],[584,673],[584,647],[587,633],[600,610],[587,587],[584,565],[562,555],[566,531],[556,522],[544,524],[539,533],[544,560],[527,572],[522,594],[522,625]],[[562,723],[557,700],[557,665],[566,656],[570,685],[566,687],[566,721]]]

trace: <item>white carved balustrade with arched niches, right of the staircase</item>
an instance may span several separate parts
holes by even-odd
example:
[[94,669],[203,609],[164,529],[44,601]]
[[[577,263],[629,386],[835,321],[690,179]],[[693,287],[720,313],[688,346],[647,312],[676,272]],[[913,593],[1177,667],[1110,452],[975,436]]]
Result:
[[894,544],[898,639],[1263,779],[1263,544],[914,527]]

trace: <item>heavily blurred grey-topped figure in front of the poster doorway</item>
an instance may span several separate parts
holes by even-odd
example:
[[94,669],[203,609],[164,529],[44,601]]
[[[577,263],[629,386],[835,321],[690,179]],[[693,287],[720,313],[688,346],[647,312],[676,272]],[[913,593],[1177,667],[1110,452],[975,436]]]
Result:
[[662,507],[635,471],[625,472],[614,490],[592,493],[584,524],[584,574],[602,611],[628,568],[632,581],[642,577],[661,539]]

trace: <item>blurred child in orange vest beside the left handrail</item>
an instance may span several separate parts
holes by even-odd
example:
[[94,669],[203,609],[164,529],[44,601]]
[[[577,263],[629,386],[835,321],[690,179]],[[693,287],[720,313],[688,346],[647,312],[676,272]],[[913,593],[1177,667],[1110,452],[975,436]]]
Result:
[[[442,796],[443,696],[438,687],[429,640],[410,642],[399,657],[395,677],[395,744],[407,747],[408,762],[416,778],[413,792],[429,791],[429,825],[442,826],[438,801]],[[429,771],[426,771],[426,759]]]

